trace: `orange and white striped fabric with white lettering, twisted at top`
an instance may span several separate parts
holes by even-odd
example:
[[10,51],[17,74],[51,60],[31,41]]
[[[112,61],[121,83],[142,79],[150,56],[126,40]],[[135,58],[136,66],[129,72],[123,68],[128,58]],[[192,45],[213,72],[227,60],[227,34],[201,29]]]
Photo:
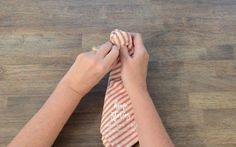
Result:
[[[114,45],[127,46],[129,54],[133,54],[130,33],[115,29],[111,32],[110,41]],[[132,103],[121,80],[119,59],[110,72],[100,132],[105,147],[130,147],[138,142]]]

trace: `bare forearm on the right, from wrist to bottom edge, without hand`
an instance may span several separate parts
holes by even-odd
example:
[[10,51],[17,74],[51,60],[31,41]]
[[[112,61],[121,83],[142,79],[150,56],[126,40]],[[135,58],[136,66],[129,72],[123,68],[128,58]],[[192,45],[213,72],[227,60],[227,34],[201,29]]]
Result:
[[146,90],[129,92],[134,108],[140,145],[172,147],[173,144]]

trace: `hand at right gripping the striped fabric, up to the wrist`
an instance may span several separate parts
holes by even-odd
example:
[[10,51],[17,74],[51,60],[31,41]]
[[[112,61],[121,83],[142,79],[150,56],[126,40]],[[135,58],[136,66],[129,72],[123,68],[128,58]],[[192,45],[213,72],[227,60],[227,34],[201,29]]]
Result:
[[122,62],[121,78],[128,93],[146,91],[146,76],[149,55],[143,45],[141,34],[132,33],[134,54],[129,55],[127,47],[122,46],[120,56]]

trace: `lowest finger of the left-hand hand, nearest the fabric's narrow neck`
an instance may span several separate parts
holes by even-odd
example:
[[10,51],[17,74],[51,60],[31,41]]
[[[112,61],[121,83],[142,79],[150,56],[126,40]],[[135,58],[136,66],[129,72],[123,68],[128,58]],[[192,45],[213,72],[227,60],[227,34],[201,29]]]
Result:
[[104,63],[106,67],[110,68],[119,56],[119,46],[112,46],[111,51],[105,56]]

